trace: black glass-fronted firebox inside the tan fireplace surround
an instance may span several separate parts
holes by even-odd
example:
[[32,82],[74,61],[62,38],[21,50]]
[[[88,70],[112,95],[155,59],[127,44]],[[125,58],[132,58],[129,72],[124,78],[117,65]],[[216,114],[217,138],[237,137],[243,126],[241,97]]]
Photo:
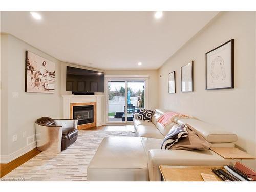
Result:
[[93,105],[73,106],[73,119],[78,120],[78,125],[93,123]]

